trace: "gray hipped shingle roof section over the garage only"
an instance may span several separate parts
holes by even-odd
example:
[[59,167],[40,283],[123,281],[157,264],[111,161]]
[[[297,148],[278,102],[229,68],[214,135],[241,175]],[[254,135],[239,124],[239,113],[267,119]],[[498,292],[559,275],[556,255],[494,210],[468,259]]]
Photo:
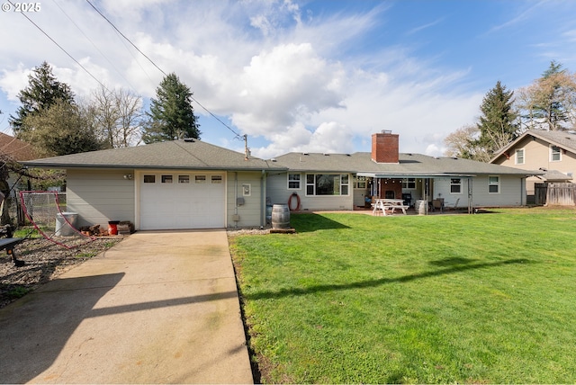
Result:
[[271,161],[220,148],[201,140],[174,140],[131,148],[112,148],[23,162],[51,168],[282,169]]

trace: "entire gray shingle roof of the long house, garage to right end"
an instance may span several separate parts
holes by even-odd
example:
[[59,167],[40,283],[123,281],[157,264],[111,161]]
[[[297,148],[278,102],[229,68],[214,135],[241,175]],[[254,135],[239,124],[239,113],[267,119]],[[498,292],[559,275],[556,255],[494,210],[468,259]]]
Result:
[[375,163],[369,152],[354,154],[288,153],[271,160],[220,148],[201,140],[174,140],[131,148],[48,157],[23,162],[49,168],[160,168],[225,170],[291,170],[300,172],[360,173],[374,176],[542,175],[513,167],[453,157],[400,154],[398,164]]

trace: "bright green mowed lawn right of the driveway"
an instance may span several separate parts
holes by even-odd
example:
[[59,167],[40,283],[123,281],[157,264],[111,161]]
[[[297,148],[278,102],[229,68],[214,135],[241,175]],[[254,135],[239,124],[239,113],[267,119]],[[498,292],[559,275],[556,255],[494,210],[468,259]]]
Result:
[[576,382],[574,210],[298,214],[231,241],[264,382]]

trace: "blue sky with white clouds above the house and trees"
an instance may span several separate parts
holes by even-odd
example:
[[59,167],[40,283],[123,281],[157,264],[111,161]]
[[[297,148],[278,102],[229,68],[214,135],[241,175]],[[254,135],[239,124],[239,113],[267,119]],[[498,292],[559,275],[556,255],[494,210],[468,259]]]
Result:
[[[576,70],[576,2],[494,0],[91,0],[194,98],[202,140],[257,157],[369,151],[374,132],[403,152],[443,155],[501,81],[530,85],[556,60]],[[6,1],[3,2],[7,3]],[[15,3],[14,3],[15,4]],[[0,130],[44,60],[79,98],[98,87],[154,96],[163,75],[81,0],[0,13]],[[4,10],[4,8],[3,8]],[[229,130],[231,129],[231,130]]]

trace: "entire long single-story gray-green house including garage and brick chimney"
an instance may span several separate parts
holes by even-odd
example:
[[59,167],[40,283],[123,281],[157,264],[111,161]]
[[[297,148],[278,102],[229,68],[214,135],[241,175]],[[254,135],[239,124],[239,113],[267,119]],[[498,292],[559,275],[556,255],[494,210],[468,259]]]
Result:
[[373,135],[370,152],[247,157],[196,139],[24,162],[67,172],[67,210],[78,226],[130,220],[136,229],[266,225],[266,206],[354,210],[377,197],[461,207],[522,206],[518,168],[451,157],[399,154],[399,137]]

